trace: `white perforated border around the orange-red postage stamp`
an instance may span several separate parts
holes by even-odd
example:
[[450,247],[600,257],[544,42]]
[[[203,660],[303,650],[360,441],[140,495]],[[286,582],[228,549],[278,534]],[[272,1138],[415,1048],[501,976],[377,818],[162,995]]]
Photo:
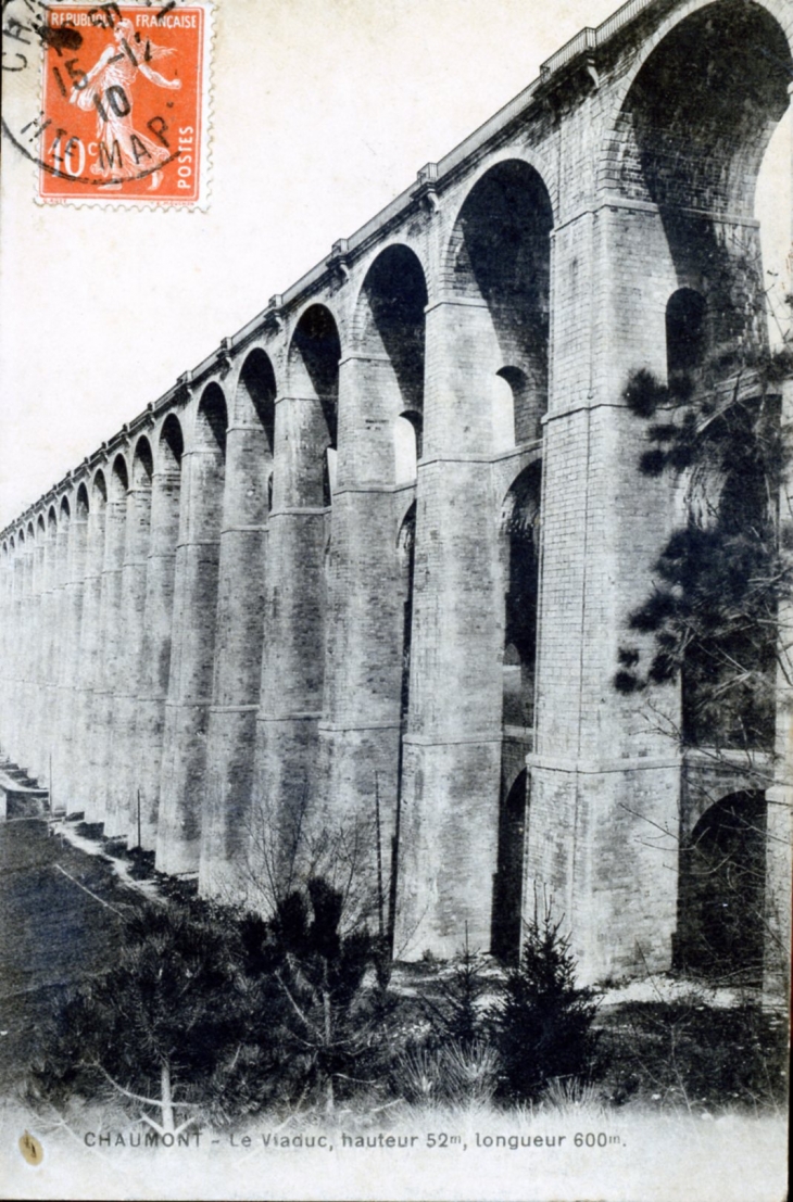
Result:
[[[146,4],[146,0],[137,0],[137,5],[142,8],[149,11],[150,6]],[[120,0],[122,7],[136,6],[135,0]],[[54,8],[54,5],[49,7]],[[59,0],[58,11],[67,12],[70,8],[84,8],[87,7],[87,0]],[[201,144],[200,144],[200,174],[199,174],[199,189],[197,194],[191,200],[177,200],[172,197],[155,197],[152,196],[134,196],[124,200],[113,192],[112,195],[96,195],[96,196],[42,196],[41,195],[41,161],[39,156],[34,156],[30,163],[31,167],[31,191],[32,200],[35,204],[40,208],[52,208],[52,207],[66,207],[71,209],[81,208],[93,208],[93,209],[106,209],[110,212],[129,212],[131,209],[156,209],[159,212],[173,210],[177,213],[194,213],[206,212],[209,207],[209,201],[212,196],[212,173],[213,173],[213,132],[214,132],[214,78],[213,78],[213,65],[214,65],[214,42],[215,42],[215,5],[214,0],[183,0],[183,4],[176,5],[174,11],[178,12],[179,7],[201,8],[203,11],[203,30],[202,30],[202,60],[201,71],[202,77],[200,79],[200,95],[201,95]],[[40,59],[36,66],[36,100],[39,105],[39,112],[43,112],[43,88],[45,88],[45,70],[47,64],[47,46],[42,41]]]

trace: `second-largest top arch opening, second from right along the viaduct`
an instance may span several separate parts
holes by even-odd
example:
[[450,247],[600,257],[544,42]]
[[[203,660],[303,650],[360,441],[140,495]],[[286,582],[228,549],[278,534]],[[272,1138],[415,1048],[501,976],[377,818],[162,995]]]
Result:
[[490,314],[495,450],[537,438],[548,411],[552,228],[539,172],[504,159],[469,189],[444,256],[451,296],[484,302]]

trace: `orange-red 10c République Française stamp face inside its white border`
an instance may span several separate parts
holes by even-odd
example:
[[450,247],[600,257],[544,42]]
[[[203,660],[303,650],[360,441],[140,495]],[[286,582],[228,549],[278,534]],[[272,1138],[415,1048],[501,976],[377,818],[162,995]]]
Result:
[[202,4],[47,10],[41,200],[201,200],[208,20]]

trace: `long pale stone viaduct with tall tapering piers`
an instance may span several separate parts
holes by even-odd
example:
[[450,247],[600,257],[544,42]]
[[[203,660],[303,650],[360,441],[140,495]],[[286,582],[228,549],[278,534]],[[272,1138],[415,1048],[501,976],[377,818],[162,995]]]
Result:
[[379,882],[401,958],[550,902],[584,978],[669,966],[745,781],[612,688],[681,504],[622,398],[686,323],[764,337],[792,44],[789,0],[631,0],[5,529],[0,737],[55,807],[265,910]]

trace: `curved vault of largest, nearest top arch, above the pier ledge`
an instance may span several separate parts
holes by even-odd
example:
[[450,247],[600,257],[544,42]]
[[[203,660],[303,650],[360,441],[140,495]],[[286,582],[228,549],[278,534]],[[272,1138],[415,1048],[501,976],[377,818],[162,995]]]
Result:
[[714,0],[679,14],[621,106],[620,192],[751,218],[792,67],[785,31],[754,0]]

